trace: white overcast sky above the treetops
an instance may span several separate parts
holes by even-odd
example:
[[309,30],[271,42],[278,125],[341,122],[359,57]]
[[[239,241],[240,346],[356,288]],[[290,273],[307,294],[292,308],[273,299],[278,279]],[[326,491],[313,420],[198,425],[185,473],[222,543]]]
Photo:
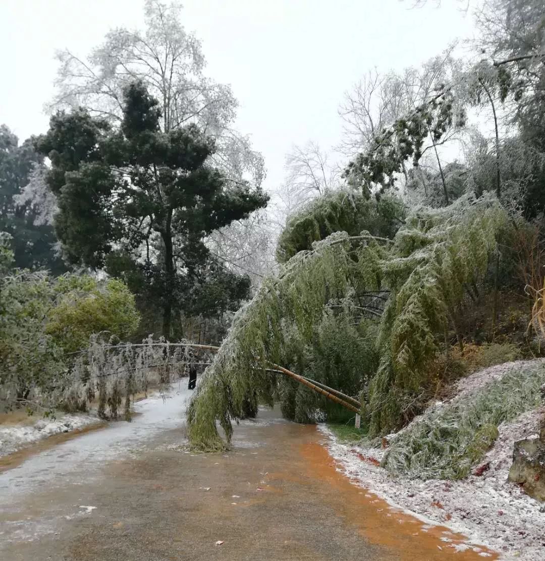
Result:
[[[265,157],[267,188],[292,144],[340,139],[344,91],[373,67],[417,66],[473,33],[456,0],[185,0],[182,21],[203,43],[207,73],[231,84],[237,126]],[[20,140],[47,130],[53,54],[84,55],[111,27],[143,25],[143,0],[0,0],[0,124]]]

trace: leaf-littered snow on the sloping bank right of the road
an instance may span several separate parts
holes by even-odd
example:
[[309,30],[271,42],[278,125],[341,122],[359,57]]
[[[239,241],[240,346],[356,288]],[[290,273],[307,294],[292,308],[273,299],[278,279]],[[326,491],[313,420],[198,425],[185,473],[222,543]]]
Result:
[[[516,366],[524,367],[525,362]],[[483,370],[460,381],[460,393],[473,391],[500,377],[514,363]],[[325,426],[319,429],[329,438],[325,444],[339,462],[338,469],[352,481],[424,521],[437,523],[469,537],[469,544],[486,545],[502,559],[543,561],[545,559],[545,504],[525,495],[519,485],[507,481],[516,440],[538,434],[545,408],[525,412],[498,427],[499,436],[482,464],[490,467],[482,476],[461,481],[410,480],[393,476],[372,462],[385,450],[341,444]],[[376,463],[376,462],[375,462]]]

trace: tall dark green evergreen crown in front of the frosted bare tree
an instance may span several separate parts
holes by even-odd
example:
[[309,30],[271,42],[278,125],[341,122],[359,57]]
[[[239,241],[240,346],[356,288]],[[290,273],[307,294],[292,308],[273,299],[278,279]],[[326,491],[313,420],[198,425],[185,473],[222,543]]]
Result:
[[195,125],[162,132],[160,116],[157,100],[135,82],[118,130],[84,111],[61,112],[36,146],[51,158],[47,181],[68,258],[106,266],[141,301],[161,307],[168,338],[176,312],[219,315],[248,296],[248,280],[222,272],[204,238],[268,196],[227,183],[207,165],[214,141]]

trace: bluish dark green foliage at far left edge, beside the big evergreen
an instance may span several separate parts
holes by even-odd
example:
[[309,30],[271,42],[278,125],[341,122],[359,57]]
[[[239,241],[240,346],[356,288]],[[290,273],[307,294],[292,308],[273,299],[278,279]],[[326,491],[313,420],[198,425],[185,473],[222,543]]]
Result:
[[15,266],[62,273],[66,267],[55,253],[57,238],[53,228],[48,224],[35,224],[40,209],[31,202],[17,201],[34,167],[42,159],[30,140],[19,145],[9,128],[0,126],[0,231],[12,236]]

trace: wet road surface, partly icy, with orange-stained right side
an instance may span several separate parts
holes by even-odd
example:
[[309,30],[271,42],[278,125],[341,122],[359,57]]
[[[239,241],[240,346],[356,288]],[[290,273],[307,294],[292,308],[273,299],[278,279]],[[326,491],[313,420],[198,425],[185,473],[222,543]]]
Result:
[[30,450],[0,473],[0,559],[483,559],[352,485],[314,426],[276,411],[242,421],[226,454],[189,453],[187,396],[174,388],[138,403],[131,423]]

